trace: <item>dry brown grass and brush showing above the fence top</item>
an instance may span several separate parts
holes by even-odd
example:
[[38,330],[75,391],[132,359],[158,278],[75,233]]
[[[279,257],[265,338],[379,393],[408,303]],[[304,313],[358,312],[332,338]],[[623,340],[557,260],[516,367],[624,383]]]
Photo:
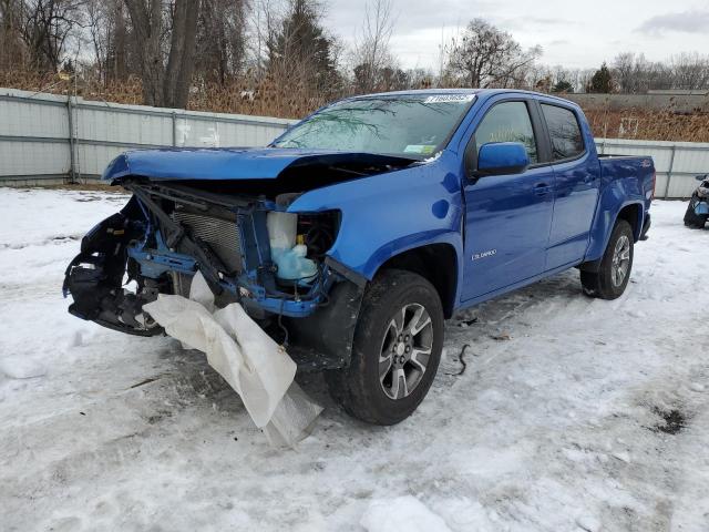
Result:
[[[342,93],[321,94],[304,82],[289,79],[280,82],[266,76],[261,81],[232,80],[225,85],[196,81],[189,96],[188,109],[220,113],[253,114],[286,119],[302,117]],[[28,72],[0,72],[0,86],[70,94],[73,81],[60,80],[55,74],[40,75]],[[112,82],[105,86],[92,80],[78,80],[78,95],[86,100],[141,104],[141,80]],[[651,141],[709,142],[709,113],[681,114],[671,109],[662,111],[584,109],[597,137],[638,139]]]

